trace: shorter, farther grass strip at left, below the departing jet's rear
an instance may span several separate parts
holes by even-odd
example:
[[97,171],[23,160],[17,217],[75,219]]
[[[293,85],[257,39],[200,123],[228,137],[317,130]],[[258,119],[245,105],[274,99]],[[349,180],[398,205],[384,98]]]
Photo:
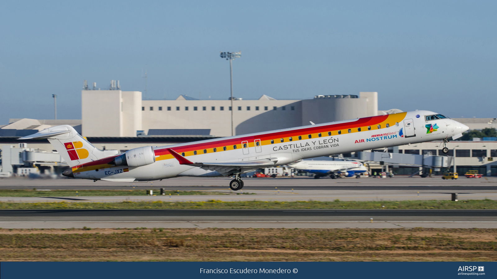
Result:
[[[154,195],[161,195],[159,189],[141,189],[133,190],[0,190],[0,197],[94,197],[94,196],[147,196],[145,190],[154,190]],[[78,192],[78,193],[76,193]],[[209,191],[166,191],[167,196],[184,195],[229,195],[229,193],[209,192]],[[244,193],[245,194],[245,193]]]

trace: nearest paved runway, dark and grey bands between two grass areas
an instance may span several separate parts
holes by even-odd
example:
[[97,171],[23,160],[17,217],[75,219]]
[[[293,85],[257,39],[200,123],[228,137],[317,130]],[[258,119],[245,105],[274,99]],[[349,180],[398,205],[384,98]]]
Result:
[[83,226],[92,228],[497,228],[497,210],[0,210],[0,227],[2,228],[82,228]]

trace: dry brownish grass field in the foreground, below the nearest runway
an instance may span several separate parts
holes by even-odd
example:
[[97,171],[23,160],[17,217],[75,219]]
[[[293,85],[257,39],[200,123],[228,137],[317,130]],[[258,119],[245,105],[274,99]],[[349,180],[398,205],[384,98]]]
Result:
[[497,261],[497,229],[0,229],[0,261]]

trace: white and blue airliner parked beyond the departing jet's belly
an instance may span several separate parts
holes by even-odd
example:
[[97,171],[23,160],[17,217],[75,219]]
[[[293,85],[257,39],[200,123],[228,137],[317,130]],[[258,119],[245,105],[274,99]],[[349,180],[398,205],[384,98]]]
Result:
[[300,160],[294,163],[289,163],[287,166],[314,173],[314,178],[330,176],[332,179],[338,178],[340,174],[343,174],[345,177],[358,177],[361,173],[368,170],[363,163],[356,161]]

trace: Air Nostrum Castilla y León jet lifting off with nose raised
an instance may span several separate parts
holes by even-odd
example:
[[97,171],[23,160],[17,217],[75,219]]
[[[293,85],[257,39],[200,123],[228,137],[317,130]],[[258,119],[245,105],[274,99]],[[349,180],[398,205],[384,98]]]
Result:
[[23,139],[45,138],[71,168],[63,175],[107,181],[151,181],[176,176],[235,176],[230,188],[244,186],[241,173],[328,156],[408,143],[457,139],[468,127],[431,111],[357,118],[270,132],[167,146],[144,146],[125,153],[100,150],[69,125],[54,126]]

